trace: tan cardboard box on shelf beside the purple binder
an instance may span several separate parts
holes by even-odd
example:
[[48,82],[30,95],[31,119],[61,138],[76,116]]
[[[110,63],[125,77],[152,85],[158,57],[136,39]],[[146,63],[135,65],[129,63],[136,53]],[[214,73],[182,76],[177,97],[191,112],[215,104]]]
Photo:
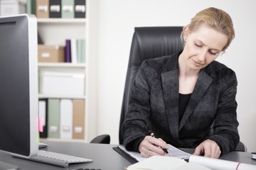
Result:
[[38,45],[38,62],[65,62],[64,46]]

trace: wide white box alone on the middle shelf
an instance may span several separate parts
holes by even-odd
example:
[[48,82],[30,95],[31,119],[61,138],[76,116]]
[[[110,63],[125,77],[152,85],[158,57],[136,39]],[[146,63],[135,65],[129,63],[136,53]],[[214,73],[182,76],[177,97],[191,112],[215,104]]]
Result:
[[39,92],[46,95],[84,96],[85,73],[40,72]]

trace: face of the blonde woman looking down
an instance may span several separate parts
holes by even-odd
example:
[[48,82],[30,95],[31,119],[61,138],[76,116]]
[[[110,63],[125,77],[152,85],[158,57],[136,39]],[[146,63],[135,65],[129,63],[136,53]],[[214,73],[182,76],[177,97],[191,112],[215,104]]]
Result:
[[193,70],[203,69],[213,62],[228,42],[226,35],[205,24],[193,32],[189,32],[185,26],[183,36],[186,44],[181,56],[186,62],[186,67]]

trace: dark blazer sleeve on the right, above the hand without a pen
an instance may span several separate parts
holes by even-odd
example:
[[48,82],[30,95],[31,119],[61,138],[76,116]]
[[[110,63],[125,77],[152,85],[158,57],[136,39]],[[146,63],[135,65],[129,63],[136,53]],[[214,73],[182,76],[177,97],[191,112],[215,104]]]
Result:
[[220,146],[222,154],[233,151],[240,140],[236,112],[238,103],[235,100],[237,86],[235,72],[228,69],[225,77],[220,79],[220,98],[213,127],[215,135],[208,137]]

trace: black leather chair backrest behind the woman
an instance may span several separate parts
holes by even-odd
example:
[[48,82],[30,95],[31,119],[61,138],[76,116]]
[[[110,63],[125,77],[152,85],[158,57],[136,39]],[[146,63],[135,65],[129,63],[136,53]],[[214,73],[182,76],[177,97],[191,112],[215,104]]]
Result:
[[132,38],[132,47],[129,55],[127,77],[124,86],[122,111],[119,122],[119,144],[122,145],[122,123],[127,113],[129,96],[134,77],[144,60],[165,55],[172,55],[182,50],[181,45],[182,27],[139,27],[135,28]]

